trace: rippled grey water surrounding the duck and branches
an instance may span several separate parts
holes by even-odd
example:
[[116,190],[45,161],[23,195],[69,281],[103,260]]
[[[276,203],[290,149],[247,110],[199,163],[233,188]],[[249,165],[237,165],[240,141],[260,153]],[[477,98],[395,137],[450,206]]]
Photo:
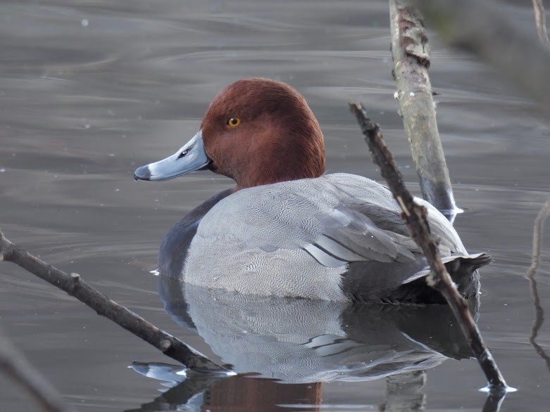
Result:
[[[530,4],[517,3],[503,7],[534,31]],[[380,179],[347,108],[349,100],[362,101],[418,191],[393,99],[386,1],[3,0],[0,50],[6,236],[215,359],[199,335],[165,313],[149,271],[168,228],[231,181],[201,172],[136,183],[132,173],[193,136],[223,86],[249,76],[289,82],[323,127],[327,171]],[[533,222],[549,195],[549,125],[491,68],[436,39],[432,50],[439,129],[465,209],[455,226],[470,252],[487,250],[495,259],[482,271],[479,326],[519,390],[501,410],[545,411],[550,333],[543,323],[537,352],[524,276]],[[546,311],[549,241],[543,228],[537,286]],[[159,382],[127,366],[170,359],[12,264],[0,265],[0,284],[6,335],[80,411],[146,408],[158,398]],[[267,382],[227,381],[215,393],[250,385],[265,410],[277,410],[268,395],[285,386]],[[385,379],[301,385],[301,399],[322,394],[323,410],[377,410],[391,398]],[[427,410],[479,411],[483,386],[475,360],[447,360],[427,371],[420,392]],[[0,411],[34,408],[0,375]]]

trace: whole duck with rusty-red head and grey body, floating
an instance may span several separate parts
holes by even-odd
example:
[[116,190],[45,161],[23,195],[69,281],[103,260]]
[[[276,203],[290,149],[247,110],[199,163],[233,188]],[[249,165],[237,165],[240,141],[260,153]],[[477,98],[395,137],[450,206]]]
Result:
[[[168,232],[161,276],[244,294],[353,302],[443,303],[425,283],[426,260],[385,186],[324,174],[325,144],[306,100],[271,79],[238,80],[208,106],[176,153],[139,167],[161,181],[209,169],[237,185],[206,200]],[[477,299],[477,268],[449,221],[428,210],[439,252],[458,290]]]

